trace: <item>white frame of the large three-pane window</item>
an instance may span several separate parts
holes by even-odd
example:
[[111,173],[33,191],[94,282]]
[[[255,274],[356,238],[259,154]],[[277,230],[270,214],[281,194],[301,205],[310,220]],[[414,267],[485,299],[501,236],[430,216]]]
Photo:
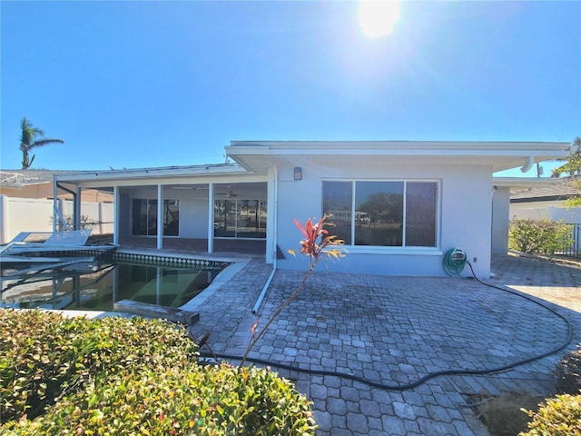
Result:
[[[394,254],[431,254],[431,255],[441,255],[441,209],[442,209],[442,180],[435,178],[420,179],[420,178],[406,178],[406,179],[387,179],[387,178],[373,178],[373,179],[361,179],[361,178],[324,178],[321,179],[320,184],[320,207],[321,215],[324,213],[324,194],[323,194],[323,184],[325,182],[343,182],[350,183],[351,186],[351,223],[350,223],[350,237],[351,243],[345,244],[345,247],[350,253],[394,253]],[[402,227],[402,245],[401,246],[390,246],[390,245],[356,245],[355,244],[355,210],[356,210],[356,184],[366,182],[393,182],[393,183],[403,183],[403,227]],[[436,211],[435,211],[435,246],[433,247],[422,247],[422,246],[407,246],[406,243],[406,226],[407,226],[407,203],[408,203],[408,183],[436,183],[437,195],[436,195]],[[330,218],[330,223],[333,219]],[[330,227],[330,233],[332,233],[332,227]]]

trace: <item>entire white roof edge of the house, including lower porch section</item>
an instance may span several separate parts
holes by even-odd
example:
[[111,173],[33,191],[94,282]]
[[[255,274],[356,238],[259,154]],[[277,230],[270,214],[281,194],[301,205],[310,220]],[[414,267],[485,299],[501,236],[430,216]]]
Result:
[[62,172],[57,182],[100,184],[103,181],[136,179],[173,180],[226,174],[266,174],[278,163],[317,162],[348,164],[385,163],[479,163],[493,171],[524,166],[547,159],[566,158],[568,143],[509,143],[454,141],[232,141],[226,153],[235,163],[166,166],[106,171]]

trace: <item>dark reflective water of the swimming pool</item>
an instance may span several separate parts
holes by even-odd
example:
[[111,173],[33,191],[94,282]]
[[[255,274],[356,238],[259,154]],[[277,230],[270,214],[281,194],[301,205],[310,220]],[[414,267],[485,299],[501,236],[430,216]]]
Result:
[[35,272],[2,272],[0,307],[112,312],[128,299],[179,307],[202,292],[220,267],[79,263]]

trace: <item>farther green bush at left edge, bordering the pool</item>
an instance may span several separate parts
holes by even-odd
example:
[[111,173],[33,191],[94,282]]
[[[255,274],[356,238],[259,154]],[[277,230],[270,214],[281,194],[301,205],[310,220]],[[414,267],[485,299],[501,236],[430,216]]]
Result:
[[0,310],[0,417],[34,418],[100,375],[184,365],[198,358],[184,329],[143,318],[64,319],[55,312]]

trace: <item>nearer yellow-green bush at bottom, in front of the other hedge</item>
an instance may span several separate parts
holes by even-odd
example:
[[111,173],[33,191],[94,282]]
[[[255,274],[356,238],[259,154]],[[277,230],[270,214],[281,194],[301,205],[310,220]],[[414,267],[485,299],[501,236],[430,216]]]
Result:
[[122,372],[65,397],[12,434],[312,435],[308,401],[274,373],[230,365]]

